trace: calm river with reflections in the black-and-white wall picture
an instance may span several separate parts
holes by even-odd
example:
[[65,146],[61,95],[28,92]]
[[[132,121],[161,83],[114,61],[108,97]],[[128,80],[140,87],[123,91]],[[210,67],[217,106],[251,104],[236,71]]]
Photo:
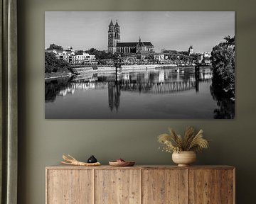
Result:
[[93,73],[45,81],[47,119],[234,118],[234,102],[213,93],[201,68]]

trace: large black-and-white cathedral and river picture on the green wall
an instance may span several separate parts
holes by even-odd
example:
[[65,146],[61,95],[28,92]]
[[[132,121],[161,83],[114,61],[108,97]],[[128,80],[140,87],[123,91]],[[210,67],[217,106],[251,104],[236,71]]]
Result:
[[45,118],[235,118],[235,12],[46,11]]

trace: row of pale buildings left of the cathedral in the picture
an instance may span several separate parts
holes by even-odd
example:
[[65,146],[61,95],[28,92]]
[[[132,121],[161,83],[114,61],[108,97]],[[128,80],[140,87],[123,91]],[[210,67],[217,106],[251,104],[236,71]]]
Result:
[[47,49],[45,52],[51,52],[55,54],[59,60],[65,60],[72,65],[97,64],[95,61],[95,55],[89,55],[88,53],[82,51],[75,51],[72,47],[68,47],[67,50]]

